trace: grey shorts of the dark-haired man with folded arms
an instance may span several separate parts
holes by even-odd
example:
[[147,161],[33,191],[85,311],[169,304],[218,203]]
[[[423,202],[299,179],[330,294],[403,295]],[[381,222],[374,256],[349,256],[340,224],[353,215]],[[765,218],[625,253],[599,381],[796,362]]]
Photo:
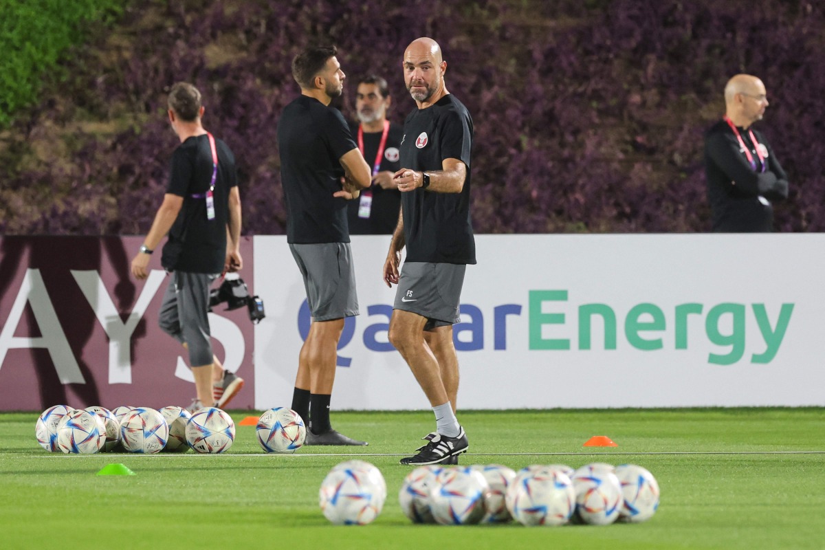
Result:
[[304,275],[309,314],[314,321],[358,315],[356,271],[349,242],[290,244]]

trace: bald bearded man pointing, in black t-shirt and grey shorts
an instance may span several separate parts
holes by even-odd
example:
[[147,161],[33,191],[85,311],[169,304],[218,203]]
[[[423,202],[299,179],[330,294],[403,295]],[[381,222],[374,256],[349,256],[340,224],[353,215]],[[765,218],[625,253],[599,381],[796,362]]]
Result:
[[[475,263],[469,217],[473,120],[444,82],[447,63],[435,40],[413,40],[404,52],[404,83],[416,101],[404,121],[398,227],[384,262],[384,281],[398,284],[389,341],[413,371],[436,414],[436,431],[402,464],[458,463],[469,449],[455,417],[459,364],[453,327],[460,321],[464,270]],[[401,250],[407,257],[400,276]]]

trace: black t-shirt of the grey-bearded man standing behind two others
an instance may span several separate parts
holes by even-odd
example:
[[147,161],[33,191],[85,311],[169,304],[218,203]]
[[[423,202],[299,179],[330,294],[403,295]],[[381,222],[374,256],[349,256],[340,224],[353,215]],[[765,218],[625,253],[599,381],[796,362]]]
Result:
[[[350,132],[353,139],[358,139],[358,124],[350,125]],[[370,171],[375,172],[375,157],[381,144],[380,132],[364,133],[364,158],[370,165]],[[379,172],[397,172],[401,167],[398,162],[398,146],[404,136],[404,130],[400,125],[390,123],[387,143],[384,144],[384,153],[381,156]],[[397,189],[384,189],[380,185],[373,184],[369,190],[361,190],[361,195],[372,194],[372,204],[370,207],[370,217],[361,218],[358,211],[361,205],[361,198],[350,200],[347,204],[347,219],[350,223],[351,235],[389,235],[395,231],[398,225],[398,210],[401,208],[401,191]]]

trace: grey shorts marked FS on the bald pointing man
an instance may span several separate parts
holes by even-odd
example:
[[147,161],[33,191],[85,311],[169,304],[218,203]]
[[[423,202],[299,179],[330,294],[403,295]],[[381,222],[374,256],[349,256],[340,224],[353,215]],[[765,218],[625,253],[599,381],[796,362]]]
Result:
[[425,331],[460,322],[465,270],[460,264],[405,261],[393,308],[427,317]]

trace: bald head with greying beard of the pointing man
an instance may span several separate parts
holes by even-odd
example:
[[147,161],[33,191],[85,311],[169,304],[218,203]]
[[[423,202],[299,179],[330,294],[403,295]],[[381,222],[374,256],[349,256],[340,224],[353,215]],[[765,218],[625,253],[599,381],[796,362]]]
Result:
[[446,96],[444,73],[447,63],[441,58],[441,47],[436,40],[423,37],[410,42],[404,50],[404,83],[418,108],[432,105]]

